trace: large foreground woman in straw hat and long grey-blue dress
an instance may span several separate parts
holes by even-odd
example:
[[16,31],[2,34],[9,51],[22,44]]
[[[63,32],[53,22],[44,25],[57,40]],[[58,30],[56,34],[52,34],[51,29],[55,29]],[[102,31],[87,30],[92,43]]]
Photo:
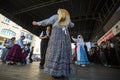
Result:
[[33,25],[52,25],[51,37],[48,43],[45,62],[45,73],[54,78],[67,77],[73,72],[72,49],[68,27],[74,24],[70,14],[65,9],[58,9],[58,14],[43,21],[33,21]]

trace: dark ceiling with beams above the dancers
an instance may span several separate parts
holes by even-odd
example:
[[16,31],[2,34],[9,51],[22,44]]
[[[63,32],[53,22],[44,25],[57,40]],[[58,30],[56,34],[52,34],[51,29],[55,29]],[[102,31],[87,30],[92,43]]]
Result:
[[95,41],[105,33],[104,25],[119,6],[120,0],[0,0],[0,13],[39,36],[42,27],[32,26],[32,21],[49,18],[65,8],[75,24],[70,35],[82,34],[85,41]]

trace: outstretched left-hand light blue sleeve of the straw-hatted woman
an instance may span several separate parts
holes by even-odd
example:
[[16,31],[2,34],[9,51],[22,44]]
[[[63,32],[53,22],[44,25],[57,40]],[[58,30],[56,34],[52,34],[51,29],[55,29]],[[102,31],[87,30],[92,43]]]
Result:
[[57,15],[53,15],[52,17],[39,21],[38,25],[39,26],[47,26],[47,25],[52,25],[54,22],[57,20]]

